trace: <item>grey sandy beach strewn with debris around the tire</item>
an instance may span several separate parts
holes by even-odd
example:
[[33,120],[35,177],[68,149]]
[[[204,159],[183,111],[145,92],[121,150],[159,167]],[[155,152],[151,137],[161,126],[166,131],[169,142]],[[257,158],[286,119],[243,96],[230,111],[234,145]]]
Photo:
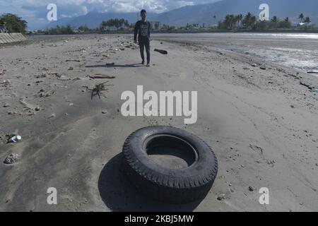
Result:
[[[146,68],[132,41],[131,35],[71,35],[0,47],[0,81],[11,81],[0,85],[0,211],[318,210],[318,93],[310,90],[318,87],[317,76],[264,61],[252,50],[182,35],[153,35]],[[89,78],[95,73],[115,78]],[[91,100],[89,89],[105,81],[108,91]],[[137,85],[198,91],[196,124],[123,117],[120,97]],[[157,203],[126,181],[122,145],[151,125],[184,129],[213,148],[218,177],[203,201]],[[15,132],[22,141],[7,144],[5,135]],[[3,164],[11,153],[18,162]],[[47,204],[49,187],[57,189],[57,205]],[[263,187],[269,205],[259,203]]]

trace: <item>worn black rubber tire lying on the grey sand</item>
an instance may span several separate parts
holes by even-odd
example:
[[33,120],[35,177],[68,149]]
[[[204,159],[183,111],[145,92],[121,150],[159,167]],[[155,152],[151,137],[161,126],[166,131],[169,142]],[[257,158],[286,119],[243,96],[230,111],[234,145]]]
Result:
[[[173,142],[171,142],[173,140]],[[148,145],[191,147],[195,153],[192,165],[167,169],[151,160]],[[164,203],[184,204],[202,200],[208,194],[218,173],[213,150],[200,138],[169,126],[139,129],[126,139],[123,148],[124,170],[129,181],[142,194]]]

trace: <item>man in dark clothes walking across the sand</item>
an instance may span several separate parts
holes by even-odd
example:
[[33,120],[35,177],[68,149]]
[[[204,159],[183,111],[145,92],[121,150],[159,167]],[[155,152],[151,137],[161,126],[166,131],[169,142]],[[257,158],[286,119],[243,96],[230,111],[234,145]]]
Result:
[[143,60],[141,64],[145,64],[145,54],[144,50],[146,47],[147,54],[147,66],[150,66],[150,30],[151,23],[146,21],[147,12],[146,10],[142,10],[141,20],[139,20],[135,25],[135,33],[134,33],[134,41],[137,43],[137,34],[138,34],[138,42],[140,48],[141,59]]

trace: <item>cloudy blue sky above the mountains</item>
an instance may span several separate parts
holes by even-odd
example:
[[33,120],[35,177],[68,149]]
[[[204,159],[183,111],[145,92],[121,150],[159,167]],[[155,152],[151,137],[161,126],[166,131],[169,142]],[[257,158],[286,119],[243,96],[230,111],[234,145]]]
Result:
[[57,5],[58,18],[98,12],[137,12],[141,8],[162,13],[187,5],[206,4],[216,0],[0,0],[0,14],[15,13],[28,21],[30,29],[47,24],[47,5]]

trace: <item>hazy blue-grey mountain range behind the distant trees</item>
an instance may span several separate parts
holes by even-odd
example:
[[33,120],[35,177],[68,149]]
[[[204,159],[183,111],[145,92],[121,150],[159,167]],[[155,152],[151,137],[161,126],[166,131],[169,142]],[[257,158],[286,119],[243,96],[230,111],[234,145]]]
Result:
[[[258,16],[261,12],[259,6],[264,3],[269,4],[270,17],[289,17],[293,23],[299,23],[298,16],[300,13],[304,13],[305,17],[310,16],[312,23],[318,24],[317,0],[222,0],[211,4],[184,6],[160,14],[148,13],[148,20],[160,21],[163,24],[175,26],[187,25],[187,23],[213,25],[223,20],[227,14],[232,13],[244,15],[252,12]],[[62,18],[49,23],[47,28],[68,24],[74,27],[88,25],[88,28],[97,28],[102,20],[110,18],[124,18],[129,23],[135,23],[137,19],[139,20],[139,13],[90,12],[85,16],[76,18]]]

